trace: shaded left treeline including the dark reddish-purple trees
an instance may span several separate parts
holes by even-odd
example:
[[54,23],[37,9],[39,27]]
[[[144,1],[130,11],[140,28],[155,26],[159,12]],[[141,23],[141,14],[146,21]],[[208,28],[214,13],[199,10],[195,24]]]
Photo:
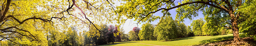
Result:
[[124,30],[118,30],[116,26],[107,26],[106,24],[97,25],[96,28],[91,26],[89,31],[77,33],[75,27],[71,27],[66,32],[50,31],[48,35],[49,46],[90,46],[108,44],[120,41],[127,41],[128,34]]

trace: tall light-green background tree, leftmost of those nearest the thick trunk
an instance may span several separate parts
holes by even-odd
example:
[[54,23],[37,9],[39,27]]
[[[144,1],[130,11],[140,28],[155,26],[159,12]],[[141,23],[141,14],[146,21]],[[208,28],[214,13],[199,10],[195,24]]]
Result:
[[204,25],[204,20],[200,18],[200,20],[193,20],[191,23],[192,30],[194,32],[194,35],[200,36],[203,35],[202,26]]

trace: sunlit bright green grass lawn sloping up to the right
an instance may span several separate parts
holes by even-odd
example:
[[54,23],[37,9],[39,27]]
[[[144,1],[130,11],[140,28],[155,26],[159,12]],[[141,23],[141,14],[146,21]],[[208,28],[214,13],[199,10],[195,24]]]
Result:
[[[240,37],[244,37],[240,35]],[[157,41],[157,40],[144,40],[144,41],[128,41],[128,42],[115,42],[114,44],[105,44],[99,46],[153,46],[153,45],[167,45],[167,46],[191,46],[196,44],[204,44],[210,42],[221,41],[225,39],[232,39],[233,34],[227,35],[214,35],[214,36],[190,36],[180,39],[173,39],[169,41]],[[144,43],[144,44],[141,44]],[[153,45],[148,45],[153,44]]]

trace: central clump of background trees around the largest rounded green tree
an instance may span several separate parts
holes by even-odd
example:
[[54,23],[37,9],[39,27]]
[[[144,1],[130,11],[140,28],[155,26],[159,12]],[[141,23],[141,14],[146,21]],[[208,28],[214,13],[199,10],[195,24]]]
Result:
[[132,39],[131,37],[135,36],[139,37],[137,40],[157,39],[160,41],[194,35],[190,26],[187,27],[184,23],[181,23],[178,20],[173,20],[170,16],[161,19],[159,22],[161,23],[158,25],[153,25],[150,23],[143,24],[138,36],[132,35],[134,32],[130,31],[129,39]]

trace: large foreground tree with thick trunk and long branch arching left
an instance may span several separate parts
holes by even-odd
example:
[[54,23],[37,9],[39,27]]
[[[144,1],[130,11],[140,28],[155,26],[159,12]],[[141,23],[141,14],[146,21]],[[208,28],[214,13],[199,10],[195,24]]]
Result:
[[[235,11],[237,9],[241,9],[240,6],[244,4],[242,0],[184,0],[177,2],[178,5],[175,5],[175,1],[177,0],[125,0],[125,3],[123,3],[124,5],[117,7],[118,10],[116,11],[120,15],[119,17],[124,16],[130,19],[135,18],[134,21],[137,21],[137,24],[140,22],[151,22],[155,19],[159,19],[160,17],[154,16],[153,14],[162,10],[162,13],[164,14],[163,16],[165,16],[165,14],[168,15],[169,10],[174,8],[177,8],[176,19],[180,21],[184,21],[184,18],[192,20],[192,18],[198,16],[198,11],[203,11],[205,16],[213,16],[216,15],[214,13],[222,13],[226,14],[223,16],[230,18],[226,19],[229,21],[225,22],[231,24],[229,27],[233,30],[233,42],[240,41],[238,34],[238,19],[242,15],[241,12]],[[206,13],[206,11],[209,12]]]

